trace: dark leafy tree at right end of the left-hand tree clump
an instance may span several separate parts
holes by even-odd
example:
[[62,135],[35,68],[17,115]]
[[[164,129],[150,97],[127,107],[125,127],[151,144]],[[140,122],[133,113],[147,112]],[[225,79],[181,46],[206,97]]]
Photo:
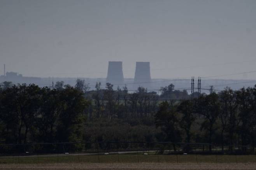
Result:
[[76,88],[65,88],[60,92],[60,115],[56,136],[59,142],[82,141],[84,130],[84,110],[88,102],[84,94]]

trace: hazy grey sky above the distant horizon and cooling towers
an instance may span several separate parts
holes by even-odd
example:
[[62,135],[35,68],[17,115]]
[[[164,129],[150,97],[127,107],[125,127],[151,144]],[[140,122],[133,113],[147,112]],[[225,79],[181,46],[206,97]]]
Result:
[[[256,70],[256,0],[0,0],[0,74],[152,78]],[[216,78],[256,79],[256,73]]]

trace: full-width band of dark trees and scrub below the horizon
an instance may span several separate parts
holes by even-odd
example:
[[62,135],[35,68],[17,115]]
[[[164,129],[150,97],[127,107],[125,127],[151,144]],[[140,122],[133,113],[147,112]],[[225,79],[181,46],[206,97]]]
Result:
[[[0,142],[168,141],[219,146],[256,142],[256,86],[191,99],[174,85],[161,94],[84,80],[75,87],[0,86]],[[210,147],[210,146],[209,146]],[[211,149],[211,148],[209,148]]]

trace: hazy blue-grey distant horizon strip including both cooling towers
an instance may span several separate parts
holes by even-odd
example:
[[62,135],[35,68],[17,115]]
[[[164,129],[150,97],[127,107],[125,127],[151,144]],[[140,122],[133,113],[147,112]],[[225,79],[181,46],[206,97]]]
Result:
[[[81,78],[85,80],[86,83],[90,85],[95,85],[96,82],[102,83],[102,88],[104,88],[106,82],[110,82],[114,85],[114,90],[116,90],[117,85],[122,89],[124,85],[130,90],[131,92],[137,90],[137,88],[145,87],[148,91],[156,91],[154,89],[160,89],[161,87],[165,87],[173,83],[175,87],[186,87],[191,83],[191,79],[163,79],[163,78],[154,78],[151,79],[151,72],[150,72],[150,63],[149,62],[136,62],[136,70],[135,70],[135,77],[134,78],[124,78],[123,76],[123,69],[122,69],[122,62],[109,62],[109,68],[106,78]],[[40,78],[40,77],[28,77],[23,76],[19,73],[12,72],[6,70],[5,64],[3,64],[3,74],[0,75],[0,84],[2,82],[12,82],[12,84],[36,84],[39,87],[51,87],[52,83],[63,81],[65,84],[75,86],[76,77],[47,77],[47,78]],[[106,81],[107,80],[107,81]],[[239,81],[239,83],[237,83]],[[203,84],[205,86],[218,86],[219,88],[225,88],[225,84],[231,84],[231,88],[238,90],[241,88],[240,83],[243,83],[246,87],[253,87],[255,85],[255,81],[248,82],[248,80],[204,80]],[[91,88],[94,90],[95,88]],[[209,90],[203,90],[203,92],[208,93]]]

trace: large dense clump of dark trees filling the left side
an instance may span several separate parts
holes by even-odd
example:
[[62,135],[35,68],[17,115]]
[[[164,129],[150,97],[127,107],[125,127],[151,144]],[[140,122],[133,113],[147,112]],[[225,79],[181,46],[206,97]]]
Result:
[[88,102],[80,90],[23,84],[3,90],[0,96],[2,142],[82,140]]

